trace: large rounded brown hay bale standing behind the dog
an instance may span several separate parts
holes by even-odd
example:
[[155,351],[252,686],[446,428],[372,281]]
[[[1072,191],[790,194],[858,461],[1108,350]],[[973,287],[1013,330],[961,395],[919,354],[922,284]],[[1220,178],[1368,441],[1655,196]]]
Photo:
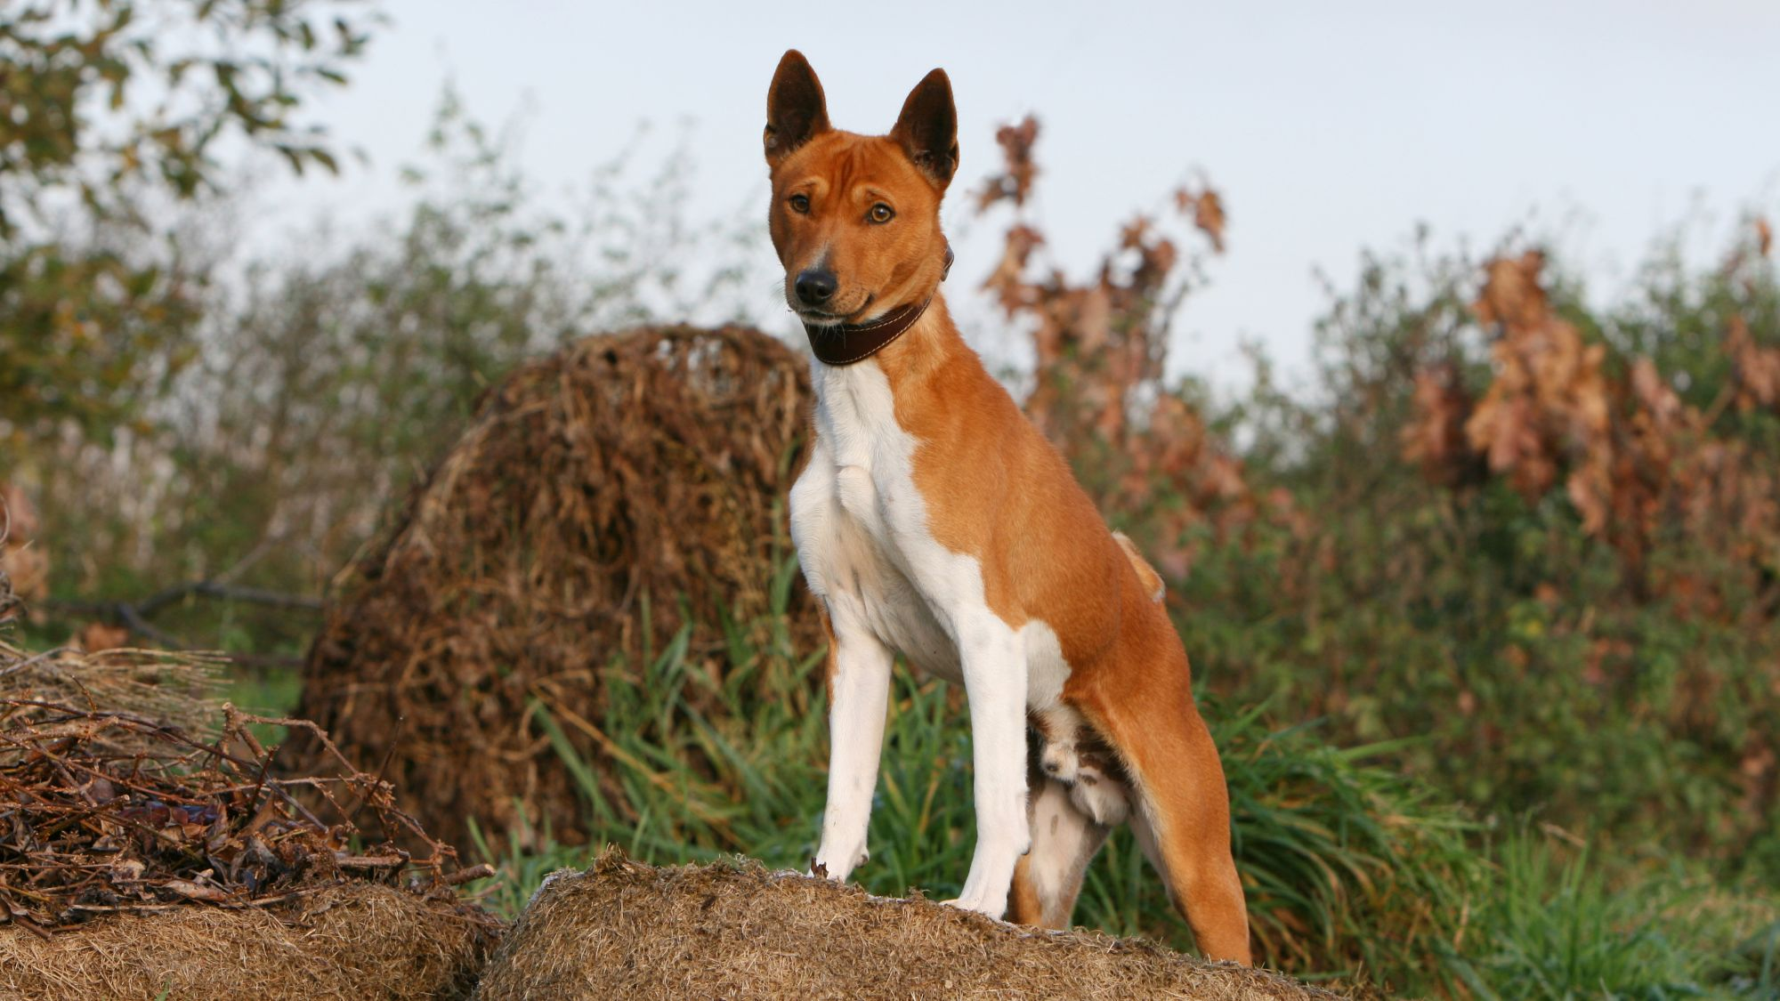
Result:
[[[792,557],[783,502],[808,406],[808,363],[740,328],[591,337],[520,367],[344,577],[297,712],[354,761],[383,762],[447,841],[466,837],[466,818],[497,837],[548,823],[584,841],[538,707],[627,812],[587,723],[600,673],[682,625],[689,671],[716,679],[724,620],[773,641],[762,618]],[[819,641],[806,602],[797,588],[799,650]],[[701,691],[687,686],[692,709],[716,711]],[[310,773],[320,757],[299,734],[281,766]]]

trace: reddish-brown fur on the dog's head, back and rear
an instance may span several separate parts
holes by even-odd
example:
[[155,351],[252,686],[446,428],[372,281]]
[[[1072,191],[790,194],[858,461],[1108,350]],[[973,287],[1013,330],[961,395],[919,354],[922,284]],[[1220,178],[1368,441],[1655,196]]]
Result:
[[[821,103],[801,55],[787,53],[769,96],[773,244],[787,274],[824,265],[838,280],[833,312],[856,321],[933,296],[927,313],[874,358],[894,399],[895,419],[920,442],[915,484],[934,538],[981,563],[988,606],[1009,627],[1043,620],[1070,664],[1064,702],[1116,748],[1161,842],[1171,899],[1212,958],[1250,962],[1242,887],[1230,859],[1230,805],[1223,768],[1193,704],[1185,650],[1161,604],[1153,570],[1107,531],[1063,456],[1020,413],[952,324],[938,296],[945,237],[938,208],[956,167],[917,166],[929,75],[904,105],[890,135],[828,128],[826,107],[783,112],[785,91]],[[917,100],[920,98],[920,100]],[[801,114],[801,118],[799,118]],[[783,116],[783,118],[780,118]],[[789,121],[790,126],[783,126]],[[815,121],[797,135],[799,121]],[[943,175],[943,176],[942,176]],[[810,210],[790,207],[794,194]],[[895,210],[890,224],[867,212]],[[831,661],[833,663],[833,661]],[[1011,892],[1016,921],[1043,921],[1043,905],[1020,860]],[[1073,894],[1061,907],[1066,923]]]

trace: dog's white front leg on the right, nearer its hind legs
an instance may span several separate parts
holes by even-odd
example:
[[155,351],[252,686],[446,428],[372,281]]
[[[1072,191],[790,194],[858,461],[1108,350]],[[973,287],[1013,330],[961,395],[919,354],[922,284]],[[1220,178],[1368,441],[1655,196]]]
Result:
[[1000,618],[958,623],[970,752],[975,764],[977,850],[958,907],[1000,917],[1013,869],[1032,846],[1025,800],[1025,648]]

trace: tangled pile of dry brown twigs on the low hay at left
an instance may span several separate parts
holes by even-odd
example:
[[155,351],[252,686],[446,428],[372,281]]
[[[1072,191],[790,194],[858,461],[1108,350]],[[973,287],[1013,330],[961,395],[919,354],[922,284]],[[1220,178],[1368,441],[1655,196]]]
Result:
[[[344,878],[449,894],[490,875],[457,867],[456,850],[315,723],[226,705],[217,736],[190,734],[77,698],[82,677],[116,671],[71,663],[84,659],[0,645],[0,923],[48,933],[101,914],[269,907]],[[75,691],[44,698],[32,671],[75,679]],[[274,777],[255,725],[306,730],[333,757],[333,775]],[[424,851],[397,848],[397,835]]]

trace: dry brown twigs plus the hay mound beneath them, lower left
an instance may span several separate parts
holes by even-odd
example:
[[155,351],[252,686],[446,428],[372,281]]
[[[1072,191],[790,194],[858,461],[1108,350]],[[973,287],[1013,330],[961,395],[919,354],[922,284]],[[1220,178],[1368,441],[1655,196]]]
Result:
[[182,727],[215,716],[212,671],[0,643],[0,994],[466,992],[500,923],[454,887],[488,869],[456,869],[386,782],[344,759],[338,777],[274,777],[249,727],[308,727],[326,745],[312,723],[226,707],[214,739]]

